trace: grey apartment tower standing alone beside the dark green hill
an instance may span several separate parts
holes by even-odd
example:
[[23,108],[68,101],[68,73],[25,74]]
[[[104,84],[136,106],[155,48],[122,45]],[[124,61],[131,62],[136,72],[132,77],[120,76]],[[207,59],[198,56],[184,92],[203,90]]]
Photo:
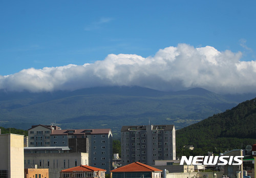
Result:
[[122,166],[133,162],[154,165],[155,160],[176,160],[174,125],[122,126]]

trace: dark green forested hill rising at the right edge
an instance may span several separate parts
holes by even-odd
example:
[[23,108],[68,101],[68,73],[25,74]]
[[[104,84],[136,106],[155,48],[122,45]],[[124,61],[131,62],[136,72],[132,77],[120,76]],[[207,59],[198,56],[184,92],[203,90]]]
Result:
[[244,149],[256,143],[256,98],[176,131],[177,154],[186,155],[185,145],[193,145],[195,153],[206,154],[230,149]]

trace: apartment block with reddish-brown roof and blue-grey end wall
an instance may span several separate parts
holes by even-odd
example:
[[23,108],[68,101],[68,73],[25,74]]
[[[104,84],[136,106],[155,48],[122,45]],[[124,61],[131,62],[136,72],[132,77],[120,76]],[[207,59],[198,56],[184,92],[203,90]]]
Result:
[[53,130],[50,136],[51,146],[69,146],[70,152],[89,150],[89,165],[106,170],[113,164],[113,135],[110,128],[105,129],[67,129]]

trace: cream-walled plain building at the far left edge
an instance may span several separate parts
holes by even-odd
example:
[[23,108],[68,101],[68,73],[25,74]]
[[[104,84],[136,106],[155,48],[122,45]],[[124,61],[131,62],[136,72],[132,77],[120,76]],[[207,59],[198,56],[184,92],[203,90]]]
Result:
[[0,177],[24,177],[24,136],[0,134]]

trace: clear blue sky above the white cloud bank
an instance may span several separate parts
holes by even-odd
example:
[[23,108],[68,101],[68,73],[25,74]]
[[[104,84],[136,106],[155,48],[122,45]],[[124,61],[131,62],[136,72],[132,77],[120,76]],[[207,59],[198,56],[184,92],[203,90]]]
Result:
[[[187,43],[255,60],[255,1],[1,1],[0,75]],[[241,41],[245,47],[241,46]]]

